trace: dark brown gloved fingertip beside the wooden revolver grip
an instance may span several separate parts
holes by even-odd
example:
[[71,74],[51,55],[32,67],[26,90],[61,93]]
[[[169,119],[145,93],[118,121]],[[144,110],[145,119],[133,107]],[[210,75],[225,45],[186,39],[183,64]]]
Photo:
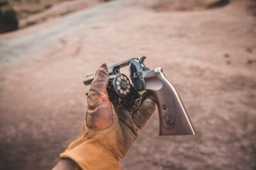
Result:
[[151,98],[151,96],[147,96],[143,103],[141,103],[140,108],[138,108],[132,115],[132,120],[139,129],[142,129],[145,126],[148,119],[156,110],[156,103]]

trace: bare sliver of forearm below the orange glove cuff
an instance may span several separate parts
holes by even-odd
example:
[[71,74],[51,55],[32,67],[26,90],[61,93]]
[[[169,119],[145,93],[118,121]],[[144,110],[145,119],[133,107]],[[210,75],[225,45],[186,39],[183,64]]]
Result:
[[60,159],[52,170],[81,170],[81,168],[72,159]]

